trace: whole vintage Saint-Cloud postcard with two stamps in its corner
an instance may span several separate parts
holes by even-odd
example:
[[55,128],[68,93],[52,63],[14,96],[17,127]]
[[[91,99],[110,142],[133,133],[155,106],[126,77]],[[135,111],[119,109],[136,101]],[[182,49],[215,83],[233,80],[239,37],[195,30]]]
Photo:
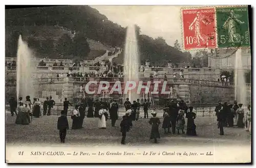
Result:
[[251,163],[250,6],[6,6],[6,163]]

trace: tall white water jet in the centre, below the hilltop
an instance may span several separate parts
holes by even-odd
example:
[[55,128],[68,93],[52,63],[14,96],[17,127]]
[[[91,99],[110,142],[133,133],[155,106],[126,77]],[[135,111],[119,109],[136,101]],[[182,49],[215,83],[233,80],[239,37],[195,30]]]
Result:
[[[124,81],[134,81],[138,84],[139,82],[139,52],[138,43],[136,37],[135,25],[129,26],[126,32],[125,50],[124,50]],[[128,92],[128,98],[131,101],[137,100],[139,94],[137,90]]]

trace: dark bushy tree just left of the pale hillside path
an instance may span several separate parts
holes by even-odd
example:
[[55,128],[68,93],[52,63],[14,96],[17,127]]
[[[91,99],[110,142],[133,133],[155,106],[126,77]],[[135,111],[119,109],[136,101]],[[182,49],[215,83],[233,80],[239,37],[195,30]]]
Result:
[[90,53],[90,46],[83,32],[76,34],[73,38],[73,53],[75,56],[80,57],[80,59],[86,59]]

